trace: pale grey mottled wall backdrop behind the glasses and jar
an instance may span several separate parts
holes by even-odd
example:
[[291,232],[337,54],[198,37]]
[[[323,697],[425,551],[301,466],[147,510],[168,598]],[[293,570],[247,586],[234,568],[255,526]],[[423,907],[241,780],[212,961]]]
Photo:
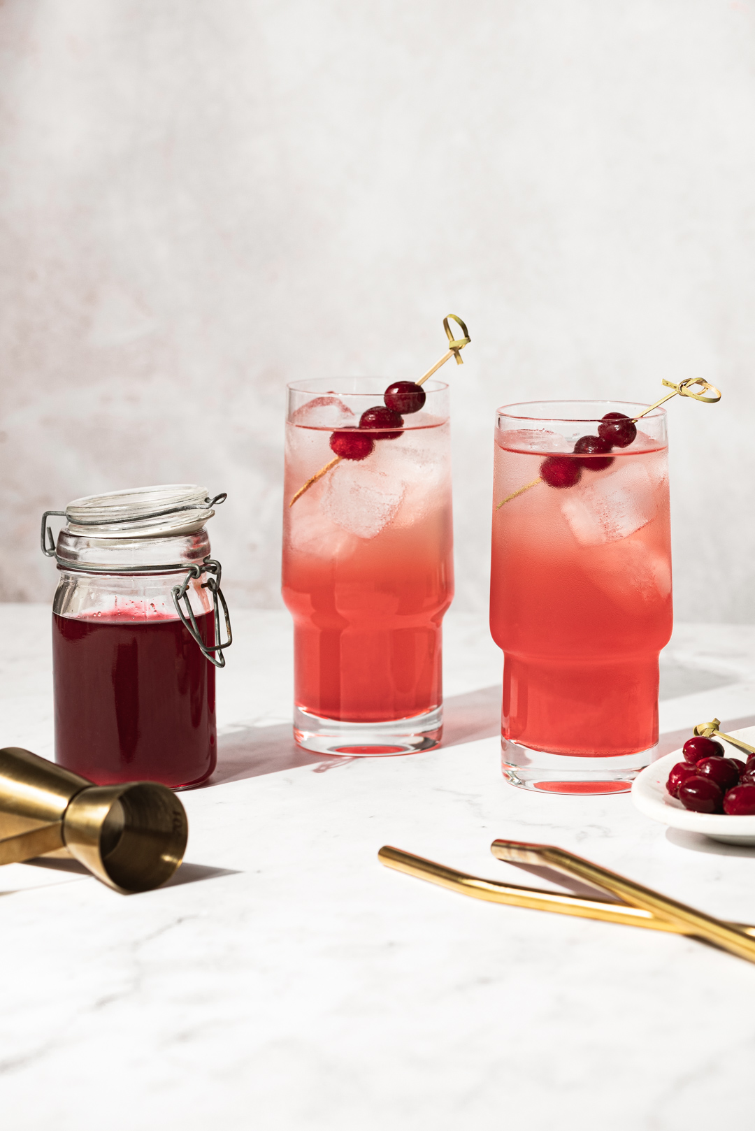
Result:
[[5,0],[0,97],[2,598],[45,507],[195,480],[277,604],[285,382],[415,377],[453,310],[458,603],[497,404],[700,375],[677,615],[755,619],[752,0]]

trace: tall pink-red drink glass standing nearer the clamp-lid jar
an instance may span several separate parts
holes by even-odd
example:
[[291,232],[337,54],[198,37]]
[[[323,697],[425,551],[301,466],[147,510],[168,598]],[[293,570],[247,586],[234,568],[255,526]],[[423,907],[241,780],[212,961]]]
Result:
[[[389,383],[289,386],[283,599],[294,623],[294,737],[328,754],[427,750],[443,727],[440,624],[454,587],[448,387],[428,381],[424,406],[402,428],[357,429]],[[334,432],[358,433],[357,458],[334,461]]]

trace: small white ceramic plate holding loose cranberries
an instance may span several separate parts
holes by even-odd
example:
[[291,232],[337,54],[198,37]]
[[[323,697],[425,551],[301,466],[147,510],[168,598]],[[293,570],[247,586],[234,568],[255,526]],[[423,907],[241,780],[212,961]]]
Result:
[[[741,739],[755,746],[755,726],[731,731],[735,739]],[[736,746],[727,746],[731,758],[745,758]],[[666,792],[666,782],[671,768],[684,761],[684,754],[676,750],[647,766],[632,783],[632,800],[645,817],[670,824],[672,829],[702,832],[711,840],[722,840],[728,845],[755,845],[755,817],[727,817],[726,813],[693,813],[680,801]]]

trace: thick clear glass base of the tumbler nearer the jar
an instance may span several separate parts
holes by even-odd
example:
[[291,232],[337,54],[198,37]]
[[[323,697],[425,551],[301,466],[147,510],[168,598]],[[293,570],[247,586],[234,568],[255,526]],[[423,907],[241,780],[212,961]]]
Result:
[[301,707],[293,709],[293,736],[304,750],[341,758],[385,758],[415,754],[440,744],[443,707],[389,719],[387,723],[342,723],[318,718]]

